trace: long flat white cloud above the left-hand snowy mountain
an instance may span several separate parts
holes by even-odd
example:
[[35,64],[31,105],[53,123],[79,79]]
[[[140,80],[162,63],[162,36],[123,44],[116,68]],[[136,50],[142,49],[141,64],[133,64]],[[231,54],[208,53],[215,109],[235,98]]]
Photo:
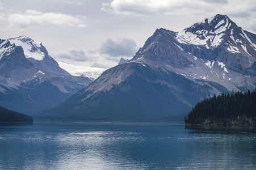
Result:
[[86,28],[83,18],[56,12],[27,10],[24,14],[10,14],[9,28],[30,28],[37,25]]

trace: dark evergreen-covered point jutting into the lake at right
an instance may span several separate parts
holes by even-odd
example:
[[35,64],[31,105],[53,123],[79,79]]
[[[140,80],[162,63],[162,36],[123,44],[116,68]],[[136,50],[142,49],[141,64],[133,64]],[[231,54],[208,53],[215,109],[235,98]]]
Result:
[[232,92],[214,95],[202,100],[185,116],[185,123],[208,124],[255,124],[256,92]]

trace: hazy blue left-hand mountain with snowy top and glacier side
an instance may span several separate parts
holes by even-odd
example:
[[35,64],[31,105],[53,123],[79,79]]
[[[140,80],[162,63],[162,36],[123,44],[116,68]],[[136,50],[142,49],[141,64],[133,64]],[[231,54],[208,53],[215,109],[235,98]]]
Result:
[[24,36],[0,40],[2,107],[35,114],[60,104],[91,82],[61,69],[41,43]]

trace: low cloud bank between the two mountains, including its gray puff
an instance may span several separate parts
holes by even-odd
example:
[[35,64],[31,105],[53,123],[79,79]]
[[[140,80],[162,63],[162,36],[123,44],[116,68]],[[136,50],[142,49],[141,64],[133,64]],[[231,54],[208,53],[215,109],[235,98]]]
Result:
[[130,58],[137,52],[136,43],[129,38],[117,40],[107,39],[99,49],[77,49],[59,50],[49,52],[54,59],[64,63],[79,66],[93,66],[110,68],[117,65],[121,57]]

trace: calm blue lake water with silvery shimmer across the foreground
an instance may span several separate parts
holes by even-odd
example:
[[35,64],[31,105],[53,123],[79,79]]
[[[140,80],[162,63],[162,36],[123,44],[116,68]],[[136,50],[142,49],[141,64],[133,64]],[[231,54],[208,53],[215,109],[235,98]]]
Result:
[[256,130],[178,123],[0,125],[0,169],[256,169]]

